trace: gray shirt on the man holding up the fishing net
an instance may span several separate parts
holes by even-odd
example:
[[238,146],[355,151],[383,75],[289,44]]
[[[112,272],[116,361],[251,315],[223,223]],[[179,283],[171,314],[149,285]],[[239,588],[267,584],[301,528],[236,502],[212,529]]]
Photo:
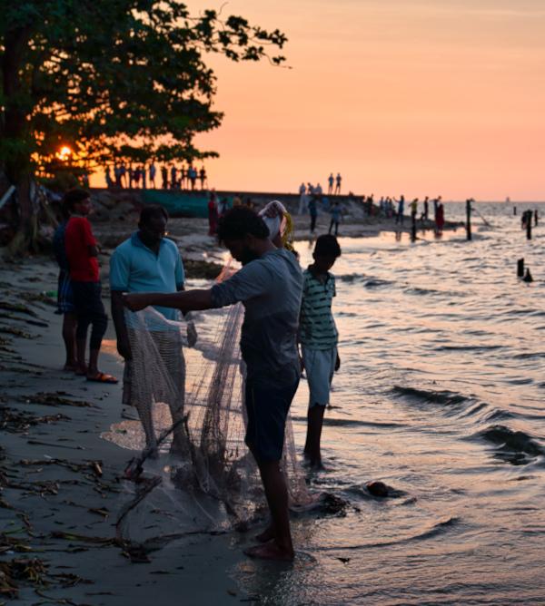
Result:
[[213,307],[243,302],[241,351],[249,379],[263,386],[287,386],[299,376],[301,297],[302,271],[285,249],[266,252],[213,286]]

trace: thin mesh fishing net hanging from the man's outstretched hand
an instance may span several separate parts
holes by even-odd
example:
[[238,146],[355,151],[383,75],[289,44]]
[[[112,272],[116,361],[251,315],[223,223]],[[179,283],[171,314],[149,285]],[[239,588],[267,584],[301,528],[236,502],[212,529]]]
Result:
[[[220,279],[230,273],[225,269]],[[198,351],[186,350],[187,367],[185,322],[167,320],[153,308],[125,313],[133,352],[131,396],[151,446],[144,458],[156,445],[170,447],[176,454],[170,478],[176,487],[222,503],[233,525],[261,517],[263,488],[244,444],[242,304],[199,317]],[[282,469],[292,507],[310,505],[289,418]]]

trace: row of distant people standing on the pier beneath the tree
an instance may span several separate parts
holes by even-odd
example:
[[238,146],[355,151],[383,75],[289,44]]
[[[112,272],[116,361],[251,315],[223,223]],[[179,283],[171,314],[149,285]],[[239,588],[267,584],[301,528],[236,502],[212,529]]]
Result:
[[163,164],[159,169],[154,162],[128,166],[124,163],[107,166],[104,169],[106,187],[119,189],[162,189],[162,190],[205,190],[208,188],[208,175],[202,166],[197,169],[193,164],[177,166]]

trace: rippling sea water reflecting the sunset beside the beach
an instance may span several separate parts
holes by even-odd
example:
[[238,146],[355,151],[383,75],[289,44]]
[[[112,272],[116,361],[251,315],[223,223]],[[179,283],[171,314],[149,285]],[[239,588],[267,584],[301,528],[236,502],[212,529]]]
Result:
[[[478,204],[465,231],[341,239],[334,314],[341,371],[314,487],[346,516],[293,522],[290,568],[233,572],[267,604],[545,603],[545,227]],[[463,219],[447,204],[447,219]],[[545,226],[545,223],[543,224]],[[341,226],[342,227],[342,226]],[[302,265],[311,259],[297,247]],[[535,282],[516,278],[526,259]],[[308,391],[292,406],[304,442]],[[395,498],[372,497],[382,480]]]

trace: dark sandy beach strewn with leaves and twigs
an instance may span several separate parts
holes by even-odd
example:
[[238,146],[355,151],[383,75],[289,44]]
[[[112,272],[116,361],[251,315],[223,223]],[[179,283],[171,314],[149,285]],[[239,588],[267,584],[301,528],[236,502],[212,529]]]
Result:
[[[108,257],[135,229],[137,216],[134,210],[123,220],[94,224],[106,308]],[[318,233],[328,220],[320,216]],[[309,239],[307,222],[296,218],[296,239]],[[353,220],[341,229],[361,237],[392,227]],[[217,273],[225,251],[207,235],[206,220],[173,219],[169,233],[181,249],[189,288]],[[61,369],[56,275],[46,257],[3,262],[0,269],[0,603],[167,604],[182,595],[187,604],[257,603],[259,596],[241,591],[231,576],[245,565],[242,549],[252,533],[210,531],[196,517],[180,523],[168,502],[118,523],[135,491],[145,489],[124,480],[134,451],[101,437],[125,431],[121,383],[93,384]],[[112,322],[103,352],[102,369],[121,377]]]

